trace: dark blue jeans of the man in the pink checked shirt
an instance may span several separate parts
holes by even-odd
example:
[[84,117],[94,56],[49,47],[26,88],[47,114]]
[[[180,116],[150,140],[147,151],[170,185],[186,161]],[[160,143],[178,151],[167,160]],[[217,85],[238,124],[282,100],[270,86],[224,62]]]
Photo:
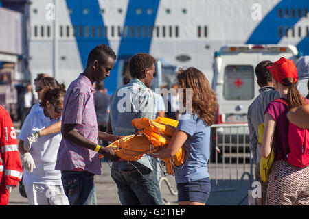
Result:
[[97,205],[93,173],[62,170],[61,180],[70,205]]

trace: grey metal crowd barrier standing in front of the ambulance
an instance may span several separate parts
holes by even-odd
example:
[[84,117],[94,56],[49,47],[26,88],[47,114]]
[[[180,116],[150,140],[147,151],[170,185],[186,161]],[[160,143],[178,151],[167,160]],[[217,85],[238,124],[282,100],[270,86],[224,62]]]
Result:
[[[208,170],[211,179],[211,192],[233,192],[240,190],[248,178],[248,190],[253,183],[252,153],[249,148],[247,124],[212,125],[211,149]],[[166,183],[171,194],[177,195],[172,178],[159,175],[159,185]],[[246,194],[238,205],[244,202]],[[164,200],[165,203],[167,201]]]

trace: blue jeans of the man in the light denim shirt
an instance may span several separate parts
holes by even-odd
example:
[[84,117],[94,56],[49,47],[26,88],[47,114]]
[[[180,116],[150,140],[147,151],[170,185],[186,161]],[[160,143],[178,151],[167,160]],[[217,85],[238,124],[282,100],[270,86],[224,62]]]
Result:
[[157,173],[139,162],[113,162],[111,177],[122,205],[163,205]]

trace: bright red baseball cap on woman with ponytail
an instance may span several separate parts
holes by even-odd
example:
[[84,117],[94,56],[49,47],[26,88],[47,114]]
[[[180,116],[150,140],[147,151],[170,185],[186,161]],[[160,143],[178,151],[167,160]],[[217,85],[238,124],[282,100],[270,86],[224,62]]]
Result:
[[280,83],[286,84],[283,80],[287,77],[293,78],[293,84],[297,81],[297,68],[293,60],[287,60],[281,57],[277,62],[274,62],[272,66],[268,66],[267,69]]

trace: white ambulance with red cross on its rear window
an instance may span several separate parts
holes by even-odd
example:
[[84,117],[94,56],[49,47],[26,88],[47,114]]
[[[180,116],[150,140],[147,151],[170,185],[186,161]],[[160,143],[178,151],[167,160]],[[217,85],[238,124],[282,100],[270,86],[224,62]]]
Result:
[[248,107],[259,95],[260,88],[255,66],[263,60],[275,62],[280,57],[297,63],[297,48],[284,44],[242,44],[227,45],[215,53],[211,86],[218,97],[216,124],[219,127],[211,131],[211,162],[214,162],[215,151],[220,153],[219,160],[230,159],[231,153],[237,151],[246,153],[246,162],[249,161],[249,129],[223,126],[247,123]]

